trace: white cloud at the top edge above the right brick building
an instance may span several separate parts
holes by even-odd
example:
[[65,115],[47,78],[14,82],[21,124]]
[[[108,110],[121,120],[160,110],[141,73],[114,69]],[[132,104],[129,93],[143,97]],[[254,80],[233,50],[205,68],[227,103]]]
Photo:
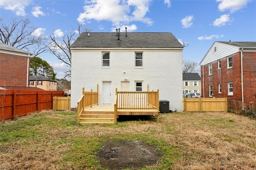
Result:
[[220,11],[228,10],[231,13],[236,12],[240,10],[241,8],[244,8],[247,5],[247,2],[249,0],[216,0],[217,2],[220,2],[218,5],[218,8]]

